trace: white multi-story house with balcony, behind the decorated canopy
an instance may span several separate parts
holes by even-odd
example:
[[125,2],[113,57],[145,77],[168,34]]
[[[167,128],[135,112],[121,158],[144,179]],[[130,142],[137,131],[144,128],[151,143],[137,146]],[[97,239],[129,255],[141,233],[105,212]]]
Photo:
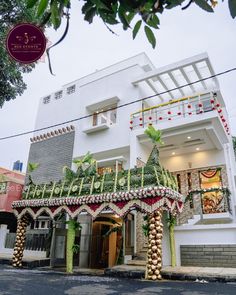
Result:
[[[72,160],[88,151],[99,174],[143,166],[152,150],[144,133],[149,124],[162,131],[161,164],[188,196],[175,227],[177,264],[236,266],[235,158],[225,102],[206,53],[162,68],[142,53],[41,98],[35,128],[49,128],[31,138],[29,162],[40,164],[33,180],[62,179],[63,166],[73,167]],[[80,251],[95,257],[95,240],[105,228],[87,215],[80,221]],[[135,211],[126,220],[127,256],[146,251],[142,223]],[[169,265],[168,239],[163,248]]]

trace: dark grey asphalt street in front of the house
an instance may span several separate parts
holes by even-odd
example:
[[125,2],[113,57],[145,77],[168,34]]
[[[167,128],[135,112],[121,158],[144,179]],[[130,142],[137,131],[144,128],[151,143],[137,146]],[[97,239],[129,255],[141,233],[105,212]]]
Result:
[[54,271],[16,270],[0,265],[0,295],[236,294],[235,283],[148,282],[104,276],[65,275]]

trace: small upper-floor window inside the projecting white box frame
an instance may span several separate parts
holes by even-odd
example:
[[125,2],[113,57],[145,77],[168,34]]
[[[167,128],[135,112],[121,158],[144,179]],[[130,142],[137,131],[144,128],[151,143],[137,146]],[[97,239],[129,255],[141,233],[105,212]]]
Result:
[[116,123],[116,117],[116,106],[110,106],[109,108],[98,110],[93,114],[93,126],[98,126],[100,124],[113,125]]

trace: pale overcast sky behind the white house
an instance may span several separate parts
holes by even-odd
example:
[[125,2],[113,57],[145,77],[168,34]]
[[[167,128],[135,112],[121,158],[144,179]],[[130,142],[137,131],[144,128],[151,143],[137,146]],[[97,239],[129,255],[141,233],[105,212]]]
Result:
[[[207,52],[216,73],[236,67],[236,20],[230,16],[227,2],[219,3],[215,13],[207,13],[192,4],[168,10],[155,30],[157,46],[152,49],[141,29],[135,40],[132,31],[113,26],[112,34],[99,18],[89,25],[81,14],[81,1],[72,0],[70,29],[66,38],[51,50],[51,62],[39,62],[24,75],[27,90],[0,109],[0,138],[34,129],[39,99],[62,85],[93,73],[113,63],[145,52],[158,68],[193,55]],[[135,21],[134,21],[135,23]],[[47,29],[50,42],[56,42],[65,27]],[[231,132],[236,135],[236,71],[218,78],[230,116]],[[0,166],[12,168],[20,160],[26,168],[30,137],[0,140]]]

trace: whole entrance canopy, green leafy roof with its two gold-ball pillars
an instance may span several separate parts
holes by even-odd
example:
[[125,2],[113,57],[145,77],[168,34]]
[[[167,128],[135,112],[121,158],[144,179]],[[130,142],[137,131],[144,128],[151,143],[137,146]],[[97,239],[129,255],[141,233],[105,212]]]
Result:
[[[85,167],[86,168],[86,167]],[[90,167],[91,168],[91,167]],[[93,168],[93,167],[92,167]],[[29,215],[37,218],[47,212],[52,218],[65,211],[72,218],[81,212],[97,217],[104,210],[126,216],[137,209],[148,216],[147,279],[161,279],[162,266],[162,211],[180,213],[185,197],[179,194],[175,177],[159,163],[159,152],[154,146],[147,164],[141,168],[116,171],[103,176],[91,169],[72,181],[25,187],[23,199],[12,204],[18,217],[13,266],[20,267],[24,251],[25,232]]]

